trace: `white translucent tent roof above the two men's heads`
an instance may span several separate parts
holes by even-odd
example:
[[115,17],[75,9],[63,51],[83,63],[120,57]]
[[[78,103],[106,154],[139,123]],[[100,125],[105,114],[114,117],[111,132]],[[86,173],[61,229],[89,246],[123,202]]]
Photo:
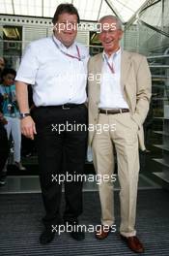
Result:
[[0,0],[0,14],[13,16],[53,16],[61,3],[72,3],[82,20],[97,21],[100,16],[116,15],[126,23],[153,0]]

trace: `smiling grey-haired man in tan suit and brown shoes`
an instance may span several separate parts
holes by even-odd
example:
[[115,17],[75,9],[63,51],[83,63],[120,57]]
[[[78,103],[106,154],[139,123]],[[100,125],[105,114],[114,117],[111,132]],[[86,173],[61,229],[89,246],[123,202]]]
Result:
[[[134,252],[143,252],[144,247],[136,237],[134,225],[138,148],[145,149],[143,122],[149,111],[151,74],[145,56],[120,48],[123,30],[116,16],[103,16],[99,25],[103,52],[89,61],[88,88],[89,141],[96,172],[102,177],[99,185],[102,226],[96,237],[105,239],[114,223],[111,176],[115,148],[121,185],[121,238]],[[100,133],[96,128],[99,125],[102,128]],[[109,176],[108,181],[105,176]]]

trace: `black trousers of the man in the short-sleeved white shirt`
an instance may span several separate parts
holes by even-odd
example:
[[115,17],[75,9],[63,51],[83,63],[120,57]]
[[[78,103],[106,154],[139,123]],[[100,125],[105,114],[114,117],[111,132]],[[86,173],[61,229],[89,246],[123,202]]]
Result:
[[[46,212],[43,223],[45,226],[57,225],[61,222],[62,183],[59,182],[59,176],[66,178],[66,174],[71,177],[84,174],[87,109],[84,105],[66,110],[62,107],[40,107],[34,110],[33,116],[37,128],[42,199]],[[81,128],[77,129],[77,125]],[[76,181],[76,178],[69,180],[64,182],[64,221],[72,223],[77,222],[82,212],[82,181]]]

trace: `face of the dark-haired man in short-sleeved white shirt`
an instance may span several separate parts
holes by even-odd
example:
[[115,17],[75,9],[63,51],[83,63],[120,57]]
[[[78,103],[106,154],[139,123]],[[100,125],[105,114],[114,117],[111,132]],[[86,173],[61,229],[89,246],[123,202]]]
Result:
[[77,16],[62,14],[54,25],[54,35],[61,43],[69,48],[77,35]]

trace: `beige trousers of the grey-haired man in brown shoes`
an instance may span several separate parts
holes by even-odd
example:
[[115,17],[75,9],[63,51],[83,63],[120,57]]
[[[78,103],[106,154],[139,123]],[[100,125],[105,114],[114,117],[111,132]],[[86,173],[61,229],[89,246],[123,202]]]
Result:
[[[129,112],[118,114],[99,113],[99,123],[93,140],[93,157],[96,172],[101,176],[99,199],[101,223],[114,224],[113,172],[114,148],[117,152],[118,177],[121,186],[120,233],[125,237],[135,236],[135,213],[139,174],[139,150],[137,124]],[[107,180],[109,176],[109,180]]]

